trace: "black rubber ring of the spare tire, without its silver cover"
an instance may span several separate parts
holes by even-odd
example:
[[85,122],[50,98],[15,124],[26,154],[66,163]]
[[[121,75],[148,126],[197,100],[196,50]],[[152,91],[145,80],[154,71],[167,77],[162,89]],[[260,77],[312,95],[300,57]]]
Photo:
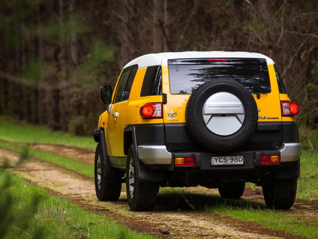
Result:
[[[228,92],[239,98],[245,110],[245,118],[239,130],[231,135],[218,135],[209,130],[202,118],[206,100],[215,93]],[[214,80],[199,86],[190,96],[185,112],[186,124],[191,136],[207,149],[217,152],[233,151],[243,145],[257,127],[258,112],[252,94],[235,80]]]

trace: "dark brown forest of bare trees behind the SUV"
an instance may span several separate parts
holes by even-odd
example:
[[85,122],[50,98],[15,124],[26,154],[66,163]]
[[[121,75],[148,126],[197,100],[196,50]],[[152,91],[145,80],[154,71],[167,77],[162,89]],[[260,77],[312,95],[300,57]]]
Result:
[[317,0],[0,0],[0,33],[0,115],[89,135],[130,60],[249,51],[275,61],[301,133],[318,127]]

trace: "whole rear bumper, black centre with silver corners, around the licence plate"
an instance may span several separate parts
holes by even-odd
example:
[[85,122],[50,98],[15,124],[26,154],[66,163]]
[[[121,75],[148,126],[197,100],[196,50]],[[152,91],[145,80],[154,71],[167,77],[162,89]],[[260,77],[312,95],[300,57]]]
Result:
[[[218,156],[221,154],[215,154],[210,152],[174,152],[170,153],[165,145],[139,145],[138,146],[138,156],[139,159],[146,165],[166,165],[170,166],[169,169],[174,164],[175,156],[182,155],[195,155],[196,166],[195,168],[200,168],[202,170],[207,169],[221,169],[229,168],[229,166],[221,167],[211,167],[210,158],[211,156]],[[223,153],[222,156],[228,155],[243,155],[245,158],[245,163],[242,166],[230,166],[231,169],[253,169],[259,166],[259,158],[261,155],[279,155],[280,162],[295,162],[299,159],[301,155],[301,144],[300,143],[283,143],[281,148],[278,150],[252,150],[252,151],[239,151],[233,153]],[[272,165],[271,165],[272,166]],[[278,165],[279,166],[279,165]]]

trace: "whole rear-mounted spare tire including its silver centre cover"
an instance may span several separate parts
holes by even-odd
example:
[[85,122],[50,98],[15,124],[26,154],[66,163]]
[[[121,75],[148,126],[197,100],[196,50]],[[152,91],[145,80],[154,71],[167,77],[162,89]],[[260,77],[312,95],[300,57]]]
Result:
[[257,106],[252,94],[235,80],[214,80],[199,86],[185,112],[188,130],[205,148],[233,151],[257,127]]

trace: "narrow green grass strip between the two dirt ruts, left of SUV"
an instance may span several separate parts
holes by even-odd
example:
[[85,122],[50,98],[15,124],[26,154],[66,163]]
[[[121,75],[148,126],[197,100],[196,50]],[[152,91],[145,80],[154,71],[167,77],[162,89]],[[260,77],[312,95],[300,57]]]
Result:
[[[6,144],[3,142],[0,142],[0,147],[3,148],[8,148],[17,152],[25,152],[26,146],[21,146],[21,145],[14,145],[14,144]],[[55,163],[57,165],[60,165],[64,168],[68,168],[71,170],[74,170],[82,175],[88,176],[93,178],[94,177],[94,167],[87,165],[87,164],[82,164],[79,161],[72,160],[71,158],[66,158],[62,156],[58,156],[56,154],[52,153],[47,153],[47,152],[42,152],[37,149],[27,149],[28,156],[30,157],[35,157],[38,159],[45,160],[47,162]]]

